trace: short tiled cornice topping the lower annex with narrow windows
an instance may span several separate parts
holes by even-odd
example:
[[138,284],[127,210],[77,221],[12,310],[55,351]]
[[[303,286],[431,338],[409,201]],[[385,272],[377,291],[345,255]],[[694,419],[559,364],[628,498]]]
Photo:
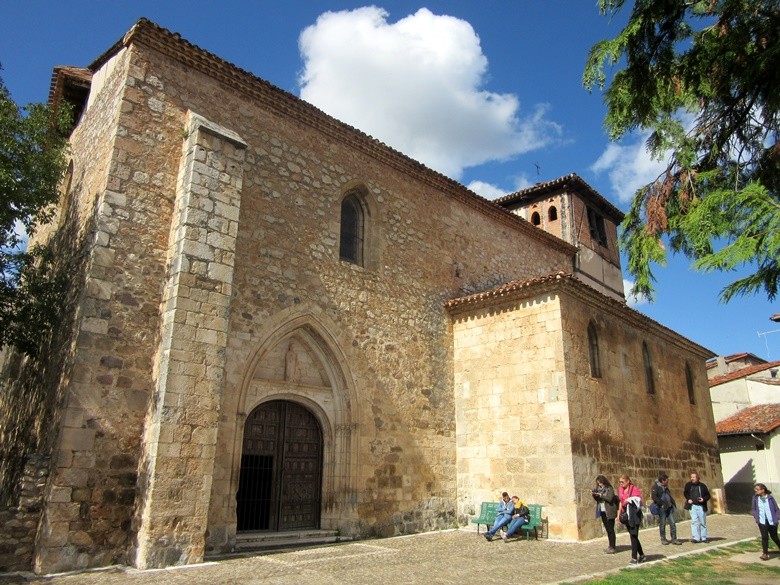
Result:
[[488,308],[498,309],[507,304],[537,297],[544,293],[568,294],[592,307],[612,313],[638,329],[650,331],[659,339],[698,354],[703,359],[708,359],[715,355],[707,348],[692,342],[650,317],[630,308],[625,303],[603,295],[579,281],[573,274],[565,272],[558,272],[531,280],[508,282],[481,293],[450,299],[444,306],[457,320],[473,315],[480,310]]

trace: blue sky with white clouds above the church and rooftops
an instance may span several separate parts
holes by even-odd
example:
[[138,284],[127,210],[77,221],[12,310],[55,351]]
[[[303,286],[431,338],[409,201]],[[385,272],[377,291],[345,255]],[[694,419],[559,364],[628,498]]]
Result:
[[[595,0],[4,0],[0,72],[20,104],[45,101],[52,68],[86,67],[140,17],[311,101],[493,198],[571,172],[617,207],[657,174],[641,136],[610,144],[589,48],[627,15]],[[635,308],[715,353],[780,359],[780,302],[728,304],[734,274],[658,267]]]

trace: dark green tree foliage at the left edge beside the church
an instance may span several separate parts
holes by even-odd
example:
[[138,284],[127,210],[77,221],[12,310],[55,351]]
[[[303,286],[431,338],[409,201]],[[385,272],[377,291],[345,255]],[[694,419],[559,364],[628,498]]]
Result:
[[0,78],[0,346],[28,355],[56,320],[64,282],[48,248],[23,249],[24,233],[32,235],[52,218],[69,123],[66,108],[53,112],[35,104],[20,110]]

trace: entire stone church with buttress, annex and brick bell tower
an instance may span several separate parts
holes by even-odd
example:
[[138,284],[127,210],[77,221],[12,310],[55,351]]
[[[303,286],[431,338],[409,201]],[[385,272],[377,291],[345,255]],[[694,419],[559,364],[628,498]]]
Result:
[[722,486],[712,354],[626,306],[576,175],[487,201],[147,20],[51,100],[72,286],[5,355],[5,567],[454,528],[503,489],[587,539],[598,473]]

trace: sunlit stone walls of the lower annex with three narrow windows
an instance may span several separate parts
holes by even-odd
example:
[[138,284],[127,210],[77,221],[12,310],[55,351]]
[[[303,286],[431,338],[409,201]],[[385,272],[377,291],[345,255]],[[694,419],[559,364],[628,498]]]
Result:
[[[451,310],[462,520],[507,490],[544,506],[550,536],[593,538],[601,534],[590,496],[596,475],[617,485],[628,473],[649,490],[662,470],[678,499],[698,471],[720,508],[703,348],[571,278],[500,287]],[[598,378],[590,372],[591,321]],[[656,378],[652,395],[643,341]],[[696,404],[688,400],[686,363]]]

